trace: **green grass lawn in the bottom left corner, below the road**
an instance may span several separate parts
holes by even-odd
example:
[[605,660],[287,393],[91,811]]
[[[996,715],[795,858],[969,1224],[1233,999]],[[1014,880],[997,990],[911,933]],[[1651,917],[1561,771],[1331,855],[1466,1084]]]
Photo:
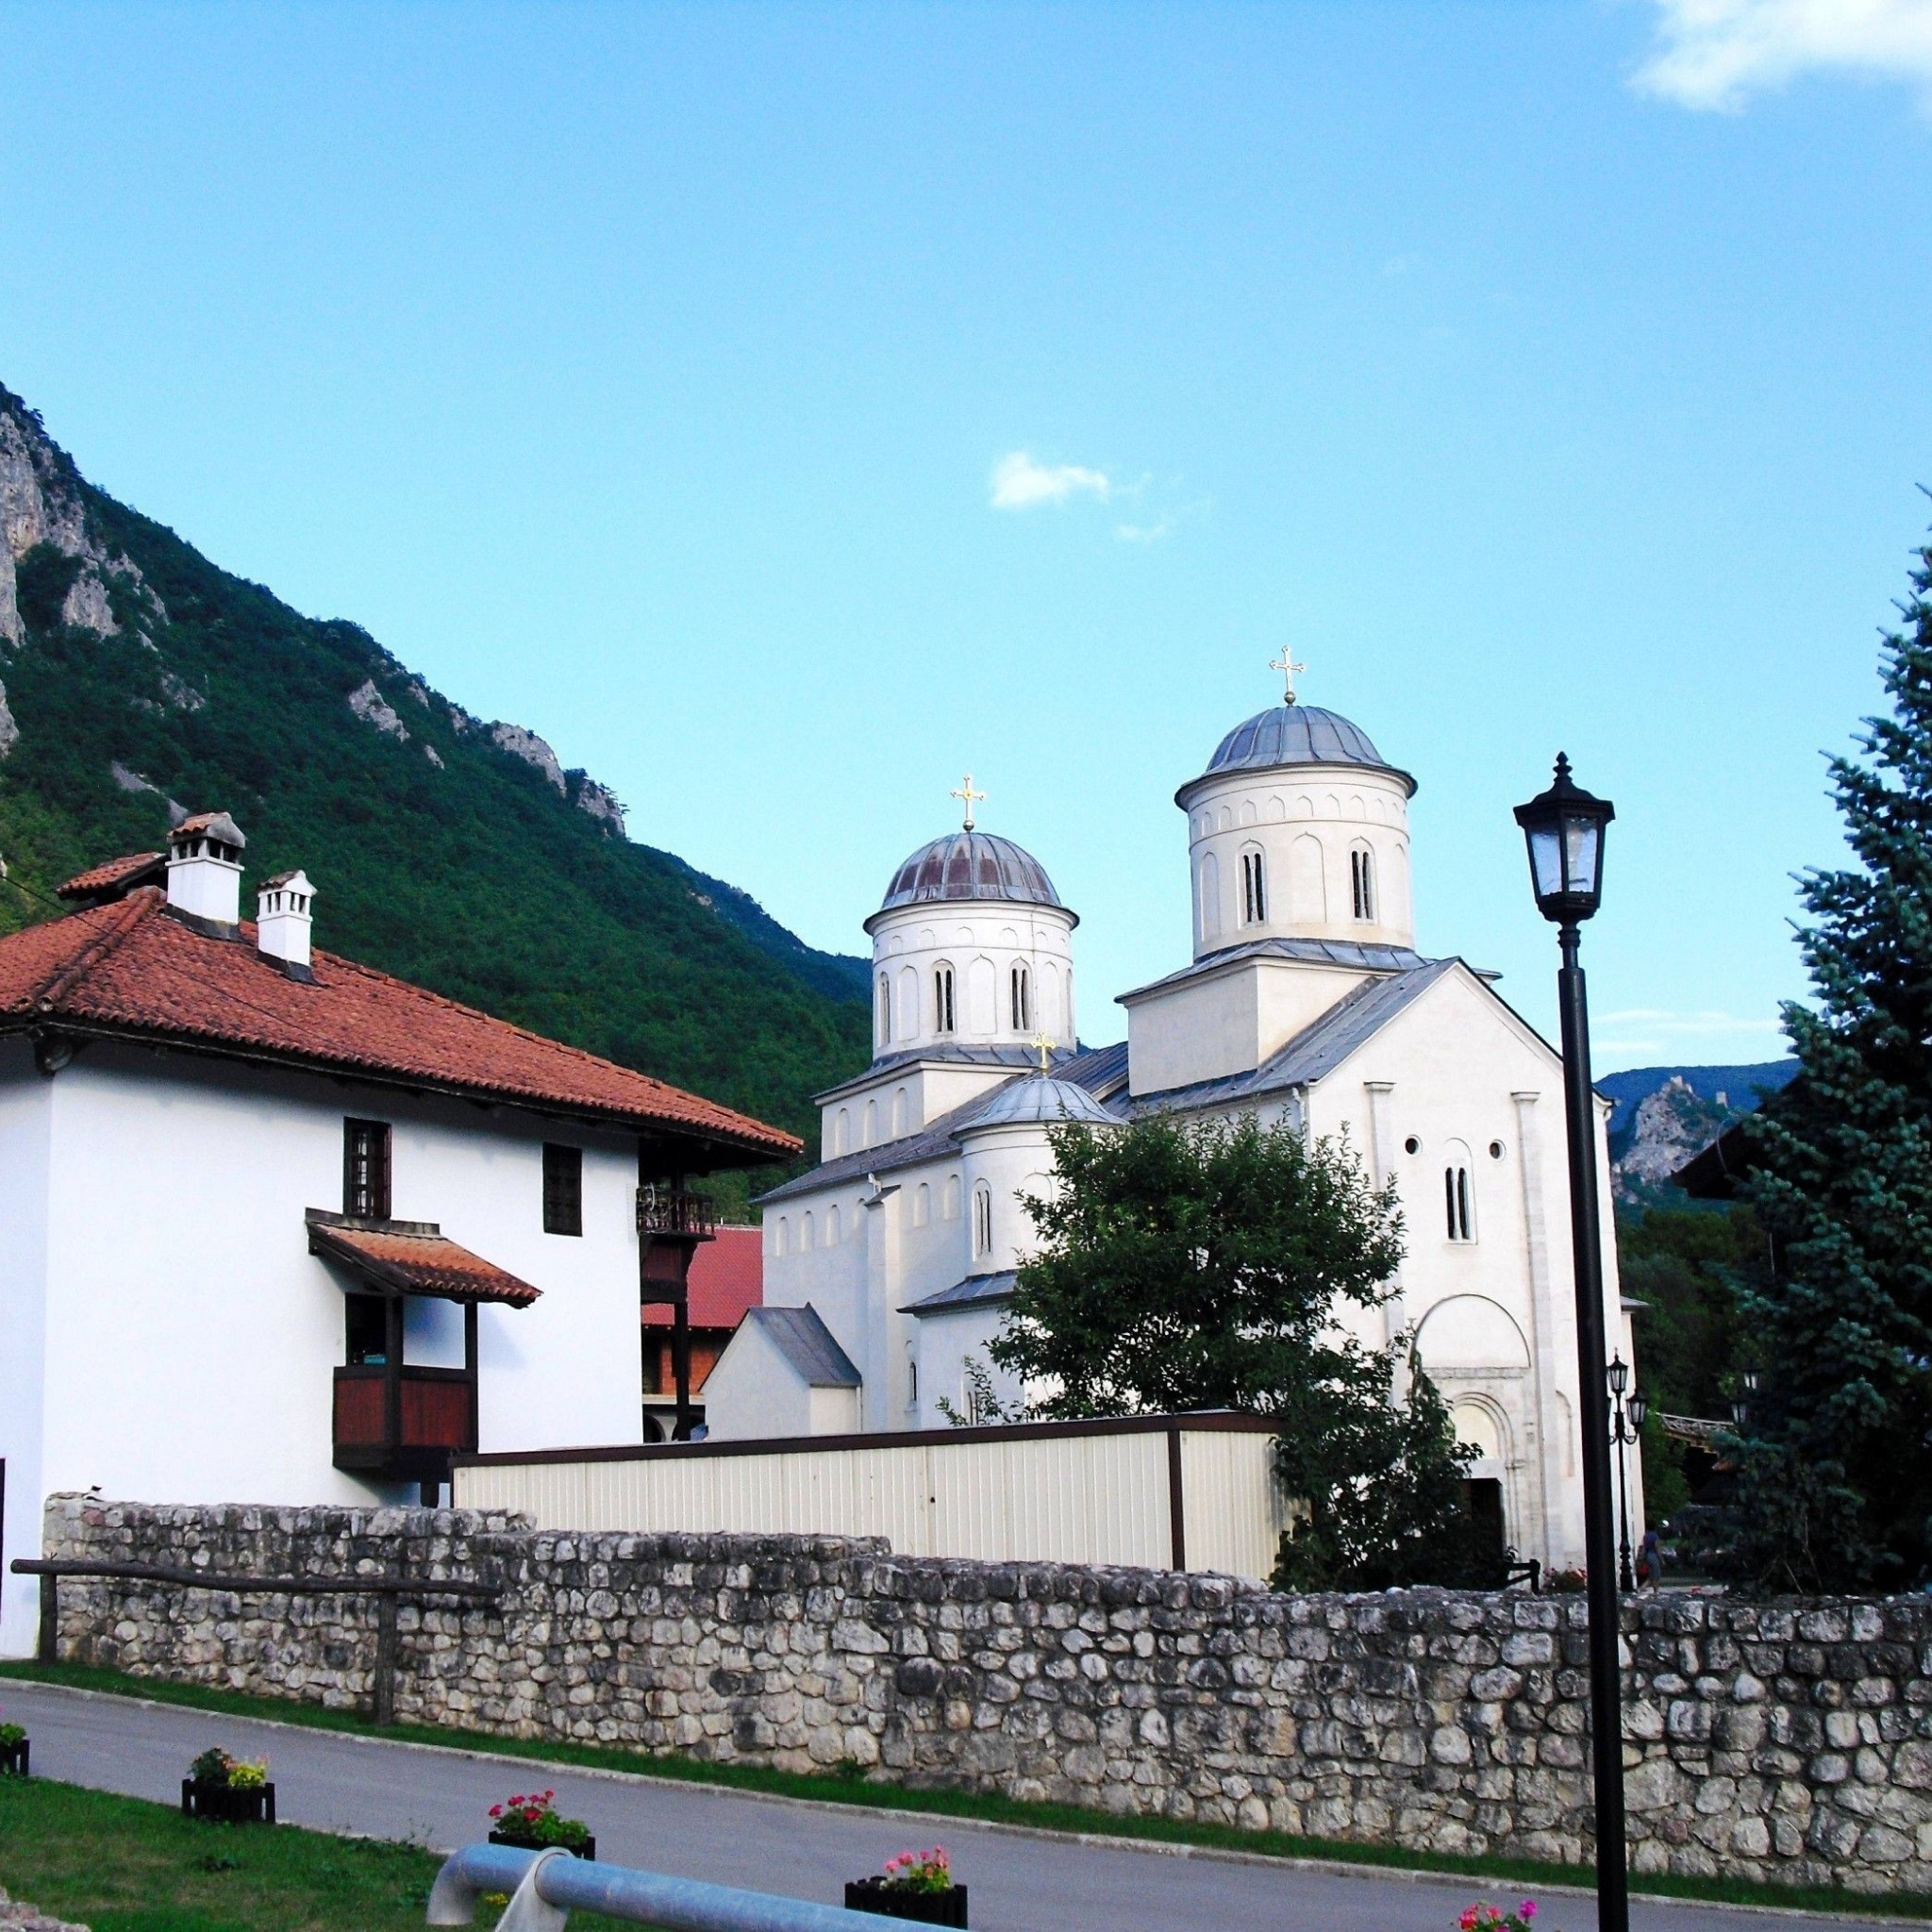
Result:
[[[421,1932],[417,1845],[220,1826],[46,1777],[0,1777],[0,1884],[95,1932]],[[477,1911],[477,1924],[495,1913]],[[636,1932],[572,1913],[572,1932]]]

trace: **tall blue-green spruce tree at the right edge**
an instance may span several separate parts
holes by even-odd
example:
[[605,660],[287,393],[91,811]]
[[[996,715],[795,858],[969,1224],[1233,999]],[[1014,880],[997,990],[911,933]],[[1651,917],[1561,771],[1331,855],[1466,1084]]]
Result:
[[1857,866],[1804,873],[1799,1078],[1752,1119],[1776,1273],[1743,1291],[1760,1385],[1737,1451],[1743,1578],[1932,1575],[1932,549],[1886,638],[1891,715],[1832,788]]

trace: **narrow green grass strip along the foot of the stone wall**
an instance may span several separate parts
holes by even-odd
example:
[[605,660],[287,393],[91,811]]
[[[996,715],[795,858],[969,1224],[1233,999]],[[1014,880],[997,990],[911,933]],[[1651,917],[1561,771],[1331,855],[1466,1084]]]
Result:
[[[269,1723],[307,1725],[317,1731],[346,1731],[355,1737],[392,1737],[412,1745],[440,1745],[479,1750],[502,1758],[533,1758],[545,1764],[576,1764],[587,1770],[628,1772],[636,1777],[663,1777],[680,1783],[715,1785],[728,1791],[761,1791],[775,1797],[811,1799],[821,1804],[864,1804],[873,1810],[914,1812],[933,1818],[968,1818],[981,1824],[1010,1824],[1034,1832],[1105,1833],[1148,1839],[1163,1845],[1200,1845],[1209,1851],[1238,1851],[1271,1859],[1321,1859],[1399,1872],[1435,1872],[1447,1878],[1507,1880],[1513,1886],[1590,1886],[1588,1866],[1553,1864],[1542,1859],[1459,1857],[1455,1853],[1410,1851],[1403,1845],[1364,1845],[1352,1839],[1302,1837],[1293,1832],[1244,1832],[1238,1826],[1184,1818],[1146,1818],[1097,1810],[1084,1804],[1022,1803],[980,1791],[935,1791],[867,1777],[856,1766],[848,1772],[777,1772],[755,1764],[717,1764],[676,1752],[653,1754],[620,1745],[582,1745],[566,1739],[497,1737],[454,1725],[396,1723],[379,1731],[365,1716],[327,1710],[294,1698],[259,1696],[245,1690],[218,1690],[207,1685],[170,1683],[160,1677],[129,1677],[124,1671],[87,1663],[0,1663],[0,1681],[68,1685],[114,1696],[139,1696],[187,1710],[224,1712],[234,1718],[261,1718]],[[1671,1872],[1631,1872],[1631,1891],[1652,1897],[1704,1899],[1714,1905],[1770,1905],[1783,1911],[1851,1913],[1884,1918],[1932,1920],[1932,1895],[1922,1891],[1851,1891],[1843,1886],[1764,1886],[1743,1878],[1692,1878]]]

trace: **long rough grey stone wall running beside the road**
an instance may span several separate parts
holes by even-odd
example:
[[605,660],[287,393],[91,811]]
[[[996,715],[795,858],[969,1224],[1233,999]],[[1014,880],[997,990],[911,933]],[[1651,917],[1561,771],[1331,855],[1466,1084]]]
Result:
[[[469,1511],[52,1497],[48,1555],[504,1586],[404,1605],[398,1718],[1113,1812],[1590,1857],[1580,1598],[1275,1596],[1225,1577]],[[1932,1891],[1932,1602],[1625,1605],[1640,1870]],[[60,1654],[332,1706],[375,1609],[66,1584]]]

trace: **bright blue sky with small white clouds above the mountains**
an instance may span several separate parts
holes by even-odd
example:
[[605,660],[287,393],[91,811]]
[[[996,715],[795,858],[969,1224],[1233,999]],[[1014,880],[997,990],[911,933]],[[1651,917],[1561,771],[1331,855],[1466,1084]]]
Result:
[[1563,750],[1598,1068],[1781,1051],[1932,522],[1932,0],[0,6],[0,170],[93,481],[811,945],[970,771],[1121,1037],[1289,645],[1424,952],[1553,1028]]

